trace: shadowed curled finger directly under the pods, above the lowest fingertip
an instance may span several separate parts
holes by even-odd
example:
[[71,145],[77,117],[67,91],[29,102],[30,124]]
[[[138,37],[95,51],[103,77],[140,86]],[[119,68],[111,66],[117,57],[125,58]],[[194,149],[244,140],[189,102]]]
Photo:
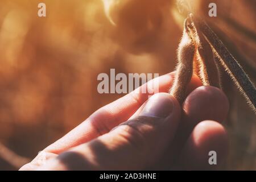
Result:
[[213,86],[200,86],[193,90],[184,101],[183,115],[174,141],[170,143],[166,154],[155,168],[170,168],[197,123],[204,120],[222,122],[228,115],[228,110],[228,98],[220,89]]

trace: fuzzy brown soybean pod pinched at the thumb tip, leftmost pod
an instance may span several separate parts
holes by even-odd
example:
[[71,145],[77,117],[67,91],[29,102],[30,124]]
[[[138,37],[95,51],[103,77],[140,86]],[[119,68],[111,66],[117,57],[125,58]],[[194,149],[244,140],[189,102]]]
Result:
[[193,44],[187,27],[187,19],[184,22],[183,37],[177,50],[178,65],[174,85],[170,89],[170,94],[174,96],[180,104],[185,99],[185,92],[193,73],[193,57],[195,55],[195,45]]

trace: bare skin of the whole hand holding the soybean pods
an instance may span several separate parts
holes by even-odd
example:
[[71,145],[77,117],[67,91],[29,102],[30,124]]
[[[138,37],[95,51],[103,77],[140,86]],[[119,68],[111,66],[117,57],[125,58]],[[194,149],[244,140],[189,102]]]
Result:
[[221,125],[228,99],[194,75],[180,106],[167,93],[174,75],[155,78],[160,93],[149,100],[148,94],[131,92],[100,108],[43,150],[46,163],[41,153],[20,170],[214,169],[208,152],[217,152],[220,165],[228,151]]

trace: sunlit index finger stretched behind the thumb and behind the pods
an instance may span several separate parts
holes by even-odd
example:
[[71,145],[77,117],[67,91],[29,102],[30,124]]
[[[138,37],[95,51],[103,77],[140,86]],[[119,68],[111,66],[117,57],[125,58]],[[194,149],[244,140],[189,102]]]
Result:
[[[102,107],[63,138],[48,146],[44,151],[59,154],[60,152],[68,150],[68,148],[88,142],[102,134],[108,133],[113,127],[129,119],[150,96],[149,93],[142,93],[138,90],[144,90],[144,87],[148,85],[157,87],[157,84],[151,84],[151,82],[158,82],[159,92],[168,92],[174,81],[174,76],[175,72],[172,72],[155,78],[148,84],[144,84],[126,96],[119,98],[117,101]],[[200,78],[194,75],[188,86],[188,93],[200,85]],[[157,90],[157,88],[153,90]]]

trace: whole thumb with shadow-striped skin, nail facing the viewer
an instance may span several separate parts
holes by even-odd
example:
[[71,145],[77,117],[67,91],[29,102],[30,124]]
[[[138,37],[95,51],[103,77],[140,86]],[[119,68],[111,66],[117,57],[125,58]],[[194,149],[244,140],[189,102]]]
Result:
[[167,93],[155,94],[136,118],[60,154],[39,169],[144,169],[162,155],[174,137],[179,119],[177,100]]

